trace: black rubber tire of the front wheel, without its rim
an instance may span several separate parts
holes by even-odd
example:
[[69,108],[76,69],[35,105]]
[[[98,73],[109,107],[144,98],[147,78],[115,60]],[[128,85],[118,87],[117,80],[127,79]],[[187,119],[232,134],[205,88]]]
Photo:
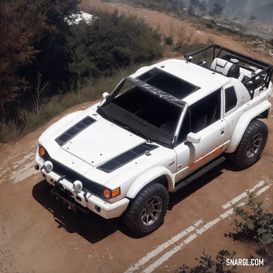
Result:
[[[145,204],[153,197],[159,196],[162,200],[162,209],[159,218],[150,226],[145,226],[141,221],[141,213]],[[156,230],[164,220],[169,204],[169,194],[161,183],[155,183],[143,188],[126,209],[123,219],[127,227],[138,234],[149,234]]]

